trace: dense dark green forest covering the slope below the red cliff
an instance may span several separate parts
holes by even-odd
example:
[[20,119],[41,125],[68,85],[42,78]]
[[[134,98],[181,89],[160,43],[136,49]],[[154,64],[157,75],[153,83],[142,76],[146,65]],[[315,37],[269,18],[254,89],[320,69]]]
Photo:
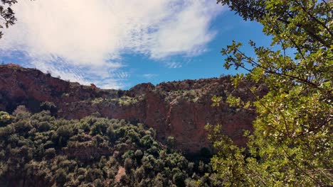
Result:
[[0,126],[0,186],[219,186],[209,164],[189,162],[173,137],[162,145],[141,123],[18,106],[0,113]]

